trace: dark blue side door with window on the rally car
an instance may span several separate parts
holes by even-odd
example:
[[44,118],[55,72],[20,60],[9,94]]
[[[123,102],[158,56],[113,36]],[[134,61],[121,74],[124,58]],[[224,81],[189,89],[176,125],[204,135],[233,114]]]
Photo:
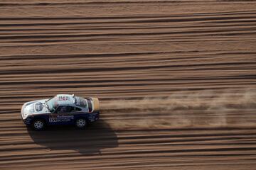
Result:
[[59,106],[54,113],[49,116],[50,125],[70,125],[74,122],[74,115],[72,106]]

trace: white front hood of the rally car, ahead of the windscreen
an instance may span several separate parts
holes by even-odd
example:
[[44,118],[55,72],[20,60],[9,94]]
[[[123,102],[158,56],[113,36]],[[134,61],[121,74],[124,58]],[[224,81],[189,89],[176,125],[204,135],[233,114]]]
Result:
[[47,99],[38,100],[38,101],[29,101],[24,103],[21,108],[22,118],[25,119],[28,115],[41,114],[41,113],[50,113],[46,108]]

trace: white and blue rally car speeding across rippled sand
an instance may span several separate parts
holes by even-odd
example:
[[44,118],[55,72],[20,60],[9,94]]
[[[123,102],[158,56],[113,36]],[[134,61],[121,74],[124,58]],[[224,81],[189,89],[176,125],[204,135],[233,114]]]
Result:
[[53,98],[24,103],[21,117],[34,130],[43,130],[47,125],[75,125],[83,129],[88,123],[99,119],[98,98],[58,94]]

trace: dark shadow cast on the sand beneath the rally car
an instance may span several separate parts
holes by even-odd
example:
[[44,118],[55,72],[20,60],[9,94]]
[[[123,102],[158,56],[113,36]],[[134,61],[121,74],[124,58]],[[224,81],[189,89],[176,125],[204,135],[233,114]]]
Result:
[[51,126],[43,131],[28,128],[28,134],[37,145],[51,150],[75,150],[80,154],[100,154],[101,149],[118,146],[117,135],[104,120],[92,123],[86,130],[73,126]]

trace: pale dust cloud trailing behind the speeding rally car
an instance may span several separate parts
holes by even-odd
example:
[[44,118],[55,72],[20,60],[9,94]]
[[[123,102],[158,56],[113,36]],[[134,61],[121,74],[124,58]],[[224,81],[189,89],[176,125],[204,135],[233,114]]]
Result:
[[[256,108],[253,89],[176,92],[169,96],[102,103],[102,115],[115,129],[218,128],[246,126]],[[241,115],[243,113],[243,115]],[[112,116],[111,119],[107,115]]]

